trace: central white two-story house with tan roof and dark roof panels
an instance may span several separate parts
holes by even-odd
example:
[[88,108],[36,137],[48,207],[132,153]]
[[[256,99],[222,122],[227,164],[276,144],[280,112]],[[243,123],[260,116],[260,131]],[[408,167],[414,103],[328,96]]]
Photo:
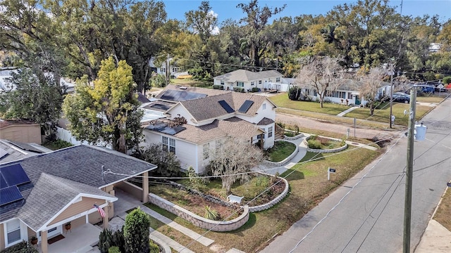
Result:
[[161,143],[175,153],[182,169],[192,166],[196,173],[203,173],[211,151],[221,148],[228,137],[245,138],[264,149],[274,145],[276,105],[266,96],[168,86],[157,98],[154,103],[160,104],[157,108],[166,119],[144,126],[142,145]]

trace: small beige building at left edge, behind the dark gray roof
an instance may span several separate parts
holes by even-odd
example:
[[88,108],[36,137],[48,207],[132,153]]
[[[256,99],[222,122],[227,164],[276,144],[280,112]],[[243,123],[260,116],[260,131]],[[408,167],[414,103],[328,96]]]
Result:
[[0,119],[0,139],[41,144],[41,126],[32,122]]

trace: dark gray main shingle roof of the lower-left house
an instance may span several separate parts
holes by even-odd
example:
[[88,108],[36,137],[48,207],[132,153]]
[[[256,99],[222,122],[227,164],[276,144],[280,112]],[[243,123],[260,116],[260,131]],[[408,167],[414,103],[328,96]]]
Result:
[[[1,207],[0,222],[16,216],[32,190],[36,189],[37,181],[43,173],[74,181],[74,183],[102,188],[156,169],[154,164],[108,148],[92,145],[75,145],[51,153],[25,157],[21,160],[0,164],[0,168],[14,164],[20,164],[23,167],[31,182],[18,186],[23,200]],[[113,173],[108,173],[108,171]]]

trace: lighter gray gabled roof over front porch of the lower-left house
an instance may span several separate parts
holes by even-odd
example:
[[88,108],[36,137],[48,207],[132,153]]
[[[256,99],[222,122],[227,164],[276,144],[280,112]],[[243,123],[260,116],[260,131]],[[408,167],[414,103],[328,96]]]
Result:
[[38,231],[80,194],[116,199],[94,186],[42,173],[17,217],[34,231]]

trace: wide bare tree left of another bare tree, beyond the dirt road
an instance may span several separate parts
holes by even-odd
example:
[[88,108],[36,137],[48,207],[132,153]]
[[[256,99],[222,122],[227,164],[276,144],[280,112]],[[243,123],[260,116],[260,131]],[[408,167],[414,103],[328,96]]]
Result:
[[323,108],[324,98],[328,91],[334,91],[340,85],[337,81],[342,77],[340,59],[314,56],[305,58],[304,64],[297,74],[296,83],[307,89],[314,89],[319,96],[319,104]]

